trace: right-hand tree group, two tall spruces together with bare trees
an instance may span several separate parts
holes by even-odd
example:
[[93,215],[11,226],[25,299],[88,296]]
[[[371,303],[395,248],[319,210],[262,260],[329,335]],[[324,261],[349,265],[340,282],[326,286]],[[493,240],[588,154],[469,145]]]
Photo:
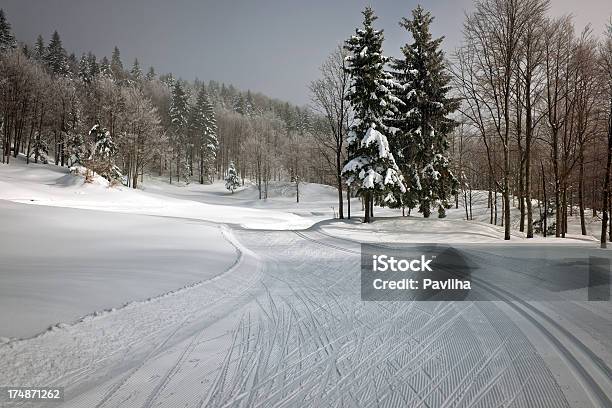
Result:
[[363,26],[310,86],[331,129],[339,197],[343,182],[353,186],[366,220],[374,203],[443,217],[460,199],[471,219],[478,189],[505,239],[513,206],[528,238],[565,237],[574,213],[586,235],[588,208],[601,214],[602,245],[606,233],[612,239],[612,24],[602,36],[577,33],[549,6],[475,1],[450,58],[421,7],[400,21],[409,33],[402,56],[385,57],[366,8]]

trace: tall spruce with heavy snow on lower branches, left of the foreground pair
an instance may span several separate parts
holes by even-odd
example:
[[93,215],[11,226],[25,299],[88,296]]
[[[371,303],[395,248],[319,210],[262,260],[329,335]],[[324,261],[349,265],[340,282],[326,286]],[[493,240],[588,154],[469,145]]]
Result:
[[388,136],[395,131],[386,122],[401,103],[392,89],[397,86],[385,71],[388,58],[382,53],[383,32],[372,26],[376,16],[370,7],[363,14],[363,28],[346,41],[347,71],[351,77],[348,101],[355,113],[349,131],[348,161],[342,169],[347,183],[365,204],[364,222],[372,221],[374,200],[389,203],[403,193],[403,177],[389,148]]

